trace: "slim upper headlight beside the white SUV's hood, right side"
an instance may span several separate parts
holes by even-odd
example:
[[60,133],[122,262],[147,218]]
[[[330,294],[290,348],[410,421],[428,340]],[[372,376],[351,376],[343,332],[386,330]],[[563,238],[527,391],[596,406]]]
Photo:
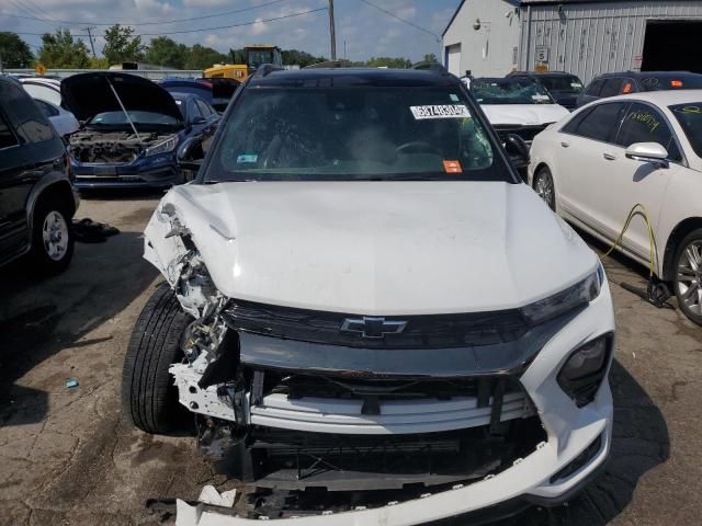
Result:
[[600,263],[597,271],[574,286],[522,307],[522,313],[533,324],[550,320],[592,301],[600,295],[603,282],[604,270]]

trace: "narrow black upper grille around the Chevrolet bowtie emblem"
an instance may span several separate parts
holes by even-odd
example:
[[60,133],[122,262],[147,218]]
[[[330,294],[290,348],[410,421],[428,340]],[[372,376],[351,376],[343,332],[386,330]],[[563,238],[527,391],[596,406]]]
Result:
[[406,322],[399,333],[364,338],[343,332],[347,319],[362,315],[326,312],[233,300],[224,310],[237,331],[302,342],[363,348],[449,348],[509,343],[520,339],[529,324],[518,309],[460,315],[392,316],[387,322]]

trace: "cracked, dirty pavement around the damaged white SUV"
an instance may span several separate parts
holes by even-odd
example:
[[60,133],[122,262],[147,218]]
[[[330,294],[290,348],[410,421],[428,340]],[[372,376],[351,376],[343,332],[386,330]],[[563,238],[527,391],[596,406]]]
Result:
[[[0,275],[2,525],[161,524],[168,517],[148,512],[148,499],[195,499],[206,483],[234,484],[197,455],[193,438],[147,436],[121,415],[126,343],[159,282],[140,258],[157,199],[84,198],[79,218],[122,233],[77,244],[61,276],[39,282],[21,264]],[[619,331],[611,461],[569,506],[533,508],[503,526],[700,523],[702,330],[616,285],[644,284],[644,268],[619,258],[605,266]],[[66,388],[67,379],[79,386]]]

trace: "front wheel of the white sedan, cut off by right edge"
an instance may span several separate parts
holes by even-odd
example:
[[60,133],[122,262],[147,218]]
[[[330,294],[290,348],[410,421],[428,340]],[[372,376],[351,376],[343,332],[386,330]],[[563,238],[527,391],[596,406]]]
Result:
[[702,228],[688,233],[678,245],[673,288],[682,313],[702,325]]

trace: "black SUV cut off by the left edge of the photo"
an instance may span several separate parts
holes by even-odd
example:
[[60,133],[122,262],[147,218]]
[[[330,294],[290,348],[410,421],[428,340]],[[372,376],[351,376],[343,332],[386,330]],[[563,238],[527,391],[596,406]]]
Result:
[[77,208],[65,142],[22,85],[0,76],[0,265],[26,254],[43,274],[64,271]]

